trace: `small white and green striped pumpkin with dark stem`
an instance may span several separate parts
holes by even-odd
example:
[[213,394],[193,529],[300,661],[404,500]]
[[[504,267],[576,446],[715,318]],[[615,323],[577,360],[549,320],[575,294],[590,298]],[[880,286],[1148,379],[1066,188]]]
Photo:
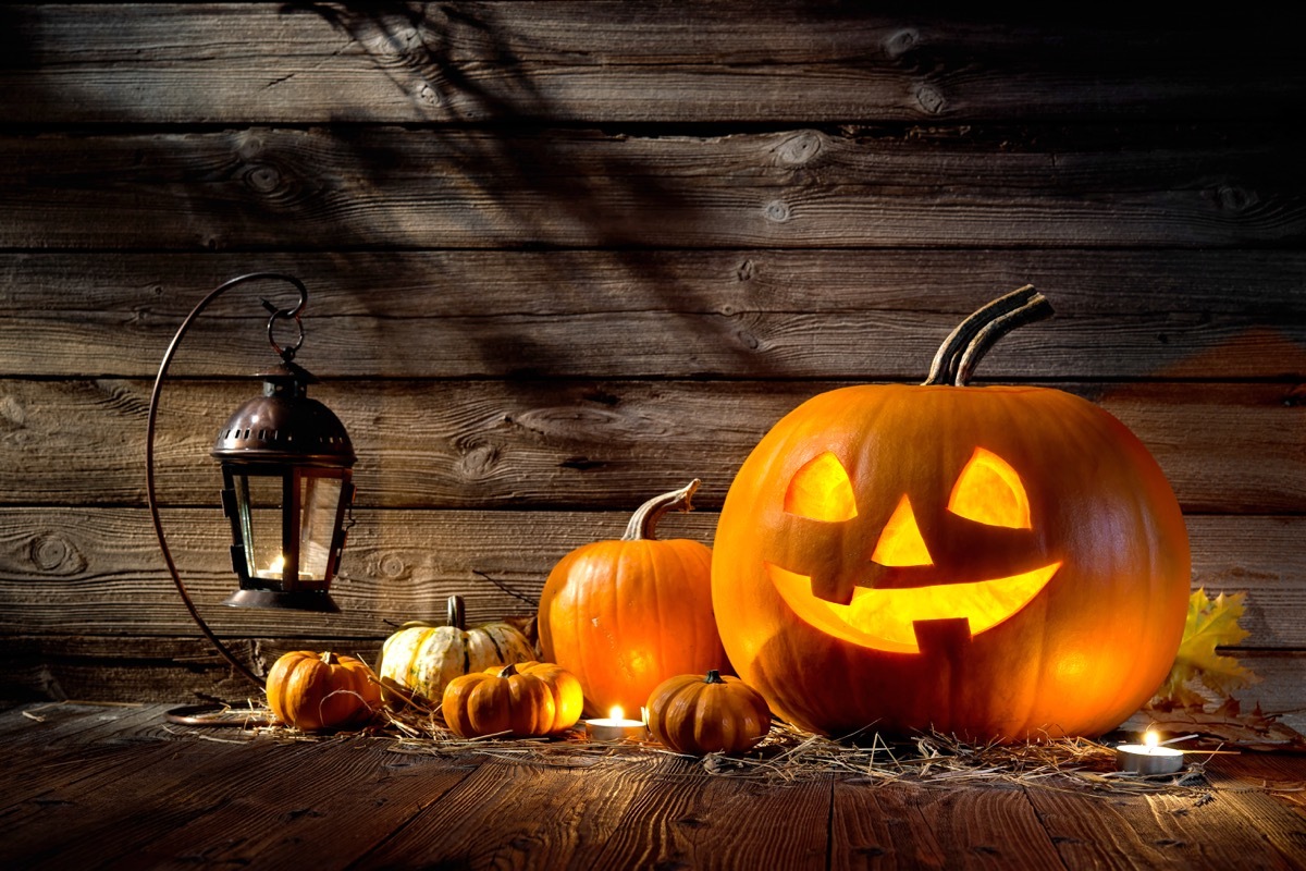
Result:
[[535,658],[526,636],[508,623],[465,626],[462,597],[451,595],[445,626],[405,623],[387,639],[377,666],[385,701],[434,705],[460,675]]

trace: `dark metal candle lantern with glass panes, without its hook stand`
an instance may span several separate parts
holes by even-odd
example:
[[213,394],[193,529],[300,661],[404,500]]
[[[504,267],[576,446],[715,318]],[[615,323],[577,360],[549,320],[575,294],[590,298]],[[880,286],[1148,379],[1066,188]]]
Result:
[[222,508],[240,589],[227,605],[338,611],[328,589],[354,501],[354,447],[330,409],[310,400],[308,372],[286,363],[263,376],[218,432]]

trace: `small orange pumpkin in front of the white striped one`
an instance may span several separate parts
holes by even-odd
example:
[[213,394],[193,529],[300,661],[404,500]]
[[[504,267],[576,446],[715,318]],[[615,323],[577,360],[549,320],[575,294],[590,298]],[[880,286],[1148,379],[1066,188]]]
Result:
[[547,735],[556,716],[545,679],[520,674],[515,665],[454,678],[444,687],[441,708],[449,731],[460,738]]

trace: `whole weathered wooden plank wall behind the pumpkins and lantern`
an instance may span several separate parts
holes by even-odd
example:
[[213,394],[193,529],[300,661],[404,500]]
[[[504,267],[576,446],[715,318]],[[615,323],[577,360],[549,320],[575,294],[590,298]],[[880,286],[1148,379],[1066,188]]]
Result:
[[300,360],[360,461],[338,616],[231,611],[208,448],[273,362],[260,289],[187,341],[158,477],[248,656],[529,612],[645,496],[731,475],[807,396],[918,381],[1033,282],[980,380],[1151,447],[1194,585],[1306,706],[1306,95],[1294,29],[876,17],[858,4],[0,7],[0,689],[243,696],[144,496],[149,389],[209,289],[311,289]]

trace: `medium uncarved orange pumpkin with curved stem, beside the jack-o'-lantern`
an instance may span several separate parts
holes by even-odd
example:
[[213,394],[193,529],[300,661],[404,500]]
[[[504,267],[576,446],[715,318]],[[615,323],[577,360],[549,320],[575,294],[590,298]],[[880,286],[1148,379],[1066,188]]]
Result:
[[727,670],[712,615],[712,551],[654,538],[658,520],[690,511],[699,482],[644,503],[619,541],[567,554],[539,597],[543,658],[575,674],[586,710],[639,710],[662,680]]

